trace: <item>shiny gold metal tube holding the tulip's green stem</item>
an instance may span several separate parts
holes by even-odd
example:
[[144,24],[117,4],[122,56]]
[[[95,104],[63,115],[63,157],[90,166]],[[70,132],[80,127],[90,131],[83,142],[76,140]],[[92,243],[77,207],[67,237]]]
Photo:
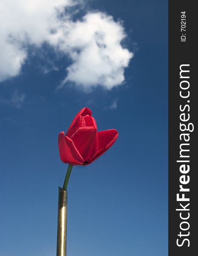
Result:
[[57,256],[66,256],[67,245],[67,191],[59,187]]

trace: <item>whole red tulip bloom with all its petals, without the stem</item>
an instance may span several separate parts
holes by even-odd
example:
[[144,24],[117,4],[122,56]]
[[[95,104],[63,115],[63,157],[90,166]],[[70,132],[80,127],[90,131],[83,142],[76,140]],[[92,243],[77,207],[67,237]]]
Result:
[[88,165],[107,151],[116,141],[115,129],[97,131],[96,121],[89,108],[82,108],[74,117],[66,134],[59,133],[60,159],[71,165]]

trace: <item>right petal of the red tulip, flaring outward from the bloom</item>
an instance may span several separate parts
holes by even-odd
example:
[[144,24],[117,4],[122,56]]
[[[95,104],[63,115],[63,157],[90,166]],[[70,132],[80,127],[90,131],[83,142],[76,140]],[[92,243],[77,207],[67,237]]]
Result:
[[[98,143],[98,150],[90,157],[88,161],[84,163],[84,165],[88,165],[92,163],[96,158],[101,156],[105,151],[107,151],[108,148],[110,148],[113,143],[116,141],[118,137],[118,131],[115,129],[110,129],[110,130],[105,130],[105,131],[99,131],[97,133],[98,135],[98,142],[96,141],[95,143]],[[97,138],[97,136],[96,136]]]

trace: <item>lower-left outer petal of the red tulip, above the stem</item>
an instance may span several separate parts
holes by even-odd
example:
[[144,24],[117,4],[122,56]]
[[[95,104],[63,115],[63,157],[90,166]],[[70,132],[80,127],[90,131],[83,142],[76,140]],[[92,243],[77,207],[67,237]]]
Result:
[[58,146],[62,162],[70,163],[72,165],[81,165],[84,163],[84,160],[76,149],[73,141],[64,135],[64,131],[59,133]]

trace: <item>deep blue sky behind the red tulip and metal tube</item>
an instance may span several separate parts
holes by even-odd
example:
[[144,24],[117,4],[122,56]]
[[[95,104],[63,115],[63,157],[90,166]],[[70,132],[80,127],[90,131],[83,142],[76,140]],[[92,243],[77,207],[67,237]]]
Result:
[[[59,51],[51,38],[40,44],[31,30],[30,43],[23,39],[23,50],[13,48],[20,49],[21,67],[10,71],[14,59],[6,55],[0,70],[0,255],[56,254],[57,193],[67,168],[59,160],[57,136],[85,106],[99,131],[116,128],[119,137],[91,165],[72,170],[68,256],[167,255],[167,7],[164,0],[93,0],[75,15],[74,23],[90,11],[105,13],[113,16],[108,22],[115,29],[124,28],[120,45],[128,52],[113,56],[115,73],[124,72],[120,85],[122,76],[112,70],[98,85],[101,76],[93,79],[89,67],[88,76],[74,73],[84,81],[79,84],[65,71],[82,64],[72,59],[73,46]],[[118,20],[123,23],[116,25]],[[116,51],[119,45],[109,45],[114,46]],[[104,62],[107,70],[112,65]]]

